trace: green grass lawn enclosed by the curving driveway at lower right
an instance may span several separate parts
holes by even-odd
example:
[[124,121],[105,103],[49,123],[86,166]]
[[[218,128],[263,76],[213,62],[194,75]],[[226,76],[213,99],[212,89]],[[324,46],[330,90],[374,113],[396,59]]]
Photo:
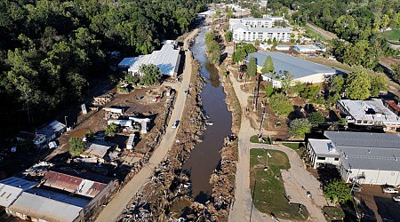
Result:
[[[268,170],[262,166],[267,162]],[[259,158],[260,156],[260,158]],[[299,212],[299,204],[290,204],[286,199],[284,182],[280,170],[287,170],[291,167],[287,155],[282,151],[251,149],[250,150],[250,186],[254,206],[263,213],[275,214],[277,218],[292,220],[305,220],[308,218],[308,210],[302,206],[302,214]]]

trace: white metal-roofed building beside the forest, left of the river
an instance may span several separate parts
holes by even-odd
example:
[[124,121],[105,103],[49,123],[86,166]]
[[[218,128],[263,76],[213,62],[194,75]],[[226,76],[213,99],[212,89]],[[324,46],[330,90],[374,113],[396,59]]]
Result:
[[173,44],[164,44],[159,51],[136,57],[132,66],[128,68],[128,72],[139,74],[140,66],[149,64],[159,67],[163,75],[177,75],[180,64],[180,50],[175,49]]

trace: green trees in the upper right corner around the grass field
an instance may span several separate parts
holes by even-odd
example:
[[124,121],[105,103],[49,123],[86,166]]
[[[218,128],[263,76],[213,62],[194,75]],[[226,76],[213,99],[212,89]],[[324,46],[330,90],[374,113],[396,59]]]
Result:
[[398,53],[388,47],[379,31],[380,28],[400,28],[399,1],[288,0],[284,4],[295,10],[292,14],[294,22],[314,23],[346,41],[332,42],[333,55],[340,62],[376,70],[381,56]]

